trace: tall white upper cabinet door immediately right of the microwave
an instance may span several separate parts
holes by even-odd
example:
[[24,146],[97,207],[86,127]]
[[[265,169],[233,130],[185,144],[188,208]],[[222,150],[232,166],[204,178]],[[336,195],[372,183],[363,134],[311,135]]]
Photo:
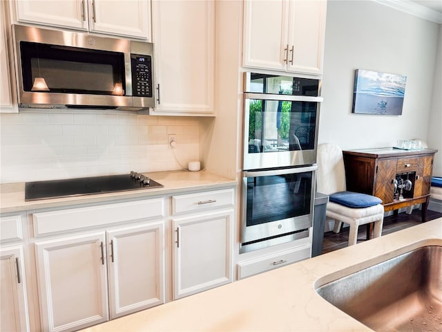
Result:
[[215,1],[152,2],[157,104],[151,114],[213,115]]

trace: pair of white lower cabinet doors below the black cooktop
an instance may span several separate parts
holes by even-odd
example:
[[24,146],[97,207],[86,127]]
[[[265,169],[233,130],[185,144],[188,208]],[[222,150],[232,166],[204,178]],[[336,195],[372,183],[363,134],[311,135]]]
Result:
[[44,331],[74,331],[164,302],[163,223],[36,242]]

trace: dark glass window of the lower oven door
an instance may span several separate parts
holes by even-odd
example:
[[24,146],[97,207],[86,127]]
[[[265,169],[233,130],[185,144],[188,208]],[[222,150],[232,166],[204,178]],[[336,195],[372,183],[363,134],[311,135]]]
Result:
[[310,213],[311,172],[247,178],[247,226]]

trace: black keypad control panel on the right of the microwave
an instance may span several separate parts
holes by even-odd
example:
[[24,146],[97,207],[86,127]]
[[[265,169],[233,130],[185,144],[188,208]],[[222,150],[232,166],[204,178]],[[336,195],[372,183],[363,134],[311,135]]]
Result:
[[152,57],[151,55],[131,54],[132,95],[152,97]]

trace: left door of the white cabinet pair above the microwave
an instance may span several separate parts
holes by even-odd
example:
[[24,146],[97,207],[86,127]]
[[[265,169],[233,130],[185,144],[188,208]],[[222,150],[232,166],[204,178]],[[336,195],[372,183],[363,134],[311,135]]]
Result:
[[87,0],[19,0],[17,21],[88,30]]

